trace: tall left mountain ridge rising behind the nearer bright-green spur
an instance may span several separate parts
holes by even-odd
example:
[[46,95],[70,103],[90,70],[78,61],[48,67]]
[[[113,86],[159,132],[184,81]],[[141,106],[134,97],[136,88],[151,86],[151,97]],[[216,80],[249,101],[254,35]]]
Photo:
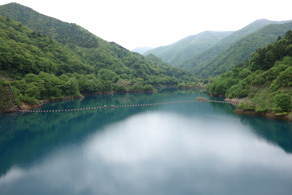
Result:
[[[153,63],[146,61],[144,56],[133,53],[114,42],[107,42],[76,24],[62,22],[17,3],[0,6],[0,15],[17,19],[34,30],[33,33],[37,36],[46,35],[65,45],[78,54],[84,62],[90,64],[94,68],[94,73],[106,68],[117,75],[126,73],[134,77],[139,77],[142,73],[167,75],[160,69],[163,68],[162,66],[154,67]],[[171,69],[177,71],[177,68]],[[90,73],[92,72],[87,74]],[[184,71],[183,73],[186,74]]]

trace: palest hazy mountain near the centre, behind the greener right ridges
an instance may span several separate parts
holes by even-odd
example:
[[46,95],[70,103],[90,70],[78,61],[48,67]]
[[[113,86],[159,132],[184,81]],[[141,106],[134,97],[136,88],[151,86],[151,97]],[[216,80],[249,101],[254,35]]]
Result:
[[199,34],[190,35],[178,42],[170,45],[160,46],[146,51],[143,55],[154,54],[160,57],[166,63],[172,66],[178,66],[178,64],[189,59],[190,57],[198,54],[211,47],[213,44],[223,39],[232,31],[216,32],[216,31],[204,31]]

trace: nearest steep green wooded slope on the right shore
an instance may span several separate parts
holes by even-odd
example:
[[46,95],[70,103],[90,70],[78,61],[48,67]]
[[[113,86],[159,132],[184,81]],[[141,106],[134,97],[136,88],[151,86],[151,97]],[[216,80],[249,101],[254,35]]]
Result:
[[[239,108],[286,115],[292,109],[292,31],[252,53],[249,65],[212,80],[208,91],[228,98],[244,97]],[[292,119],[291,113],[287,115]],[[290,118],[289,118],[290,117]]]

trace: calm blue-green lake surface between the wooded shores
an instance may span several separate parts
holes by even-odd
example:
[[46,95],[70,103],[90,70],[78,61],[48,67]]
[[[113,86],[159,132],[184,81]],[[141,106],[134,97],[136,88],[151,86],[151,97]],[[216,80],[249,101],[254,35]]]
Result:
[[[191,101],[200,90],[86,96],[42,110]],[[292,123],[190,102],[0,115],[0,194],[291,194]]]

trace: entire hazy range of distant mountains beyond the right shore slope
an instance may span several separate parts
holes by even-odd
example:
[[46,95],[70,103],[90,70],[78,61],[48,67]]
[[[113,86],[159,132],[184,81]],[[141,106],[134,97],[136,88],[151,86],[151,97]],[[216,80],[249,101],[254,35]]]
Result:
[[[215,33],[214,31],[204,31],[173,44],[151,49],[143,55],[157,55],[172,66],[190,70],[193,76],[216,76],[234,68],[238,63],[249,60],[251,53],[259,47],[276,41],[278,36],[290,30],[287,23],[291,21],[258,19],[240,30],[227,32],[226,36],[217,37],[218,39],[208,36],[208,33]],[[281,24],[287,25],[280,27]],[[267,25],[272,26],[266,27]],[[258,34],[253,34],[256,32]],[[206,44],[210,40],[213,42]]]

